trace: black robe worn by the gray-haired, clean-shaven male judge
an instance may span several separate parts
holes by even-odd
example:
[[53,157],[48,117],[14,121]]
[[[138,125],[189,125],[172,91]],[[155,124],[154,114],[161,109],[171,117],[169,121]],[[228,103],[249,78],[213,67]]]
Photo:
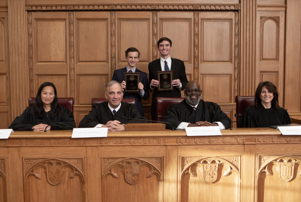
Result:
[[[140,115],[134,104],[121,102],[119,110],[115,113],[115,115],[113,115],[108,106],[108,103],[108,101],[103,103],[95,103],[90,113],[88,115],[85,115],[85,117],[79,123],[79,128],[94,128],[98,124],[106,125],[108,121],[114,120],[119,121],[120,124],[147,123],[146,119]],[[120,118],[120,116],[139,118],[144,119],[145,121]]]

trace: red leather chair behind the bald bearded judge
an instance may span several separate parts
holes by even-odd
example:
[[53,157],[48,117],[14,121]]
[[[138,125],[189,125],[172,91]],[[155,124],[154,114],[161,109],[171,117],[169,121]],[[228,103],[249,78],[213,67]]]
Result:
[[165,115],[167,107],[182,102],[185,97],[157,97],[156,99],[156,121],[162,121],[162,117]]

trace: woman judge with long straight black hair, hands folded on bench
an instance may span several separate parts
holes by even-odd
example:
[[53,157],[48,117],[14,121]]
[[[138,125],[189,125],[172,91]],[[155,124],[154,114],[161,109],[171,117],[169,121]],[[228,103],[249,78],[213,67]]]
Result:
[[[57,125],[48,126],[47,125]],[[16,117],[9,126],[15,131],[70,130],[76,128],[73,113],[57,103],[57,91],[54,84],[43,83],[38,90],[32,107]]]

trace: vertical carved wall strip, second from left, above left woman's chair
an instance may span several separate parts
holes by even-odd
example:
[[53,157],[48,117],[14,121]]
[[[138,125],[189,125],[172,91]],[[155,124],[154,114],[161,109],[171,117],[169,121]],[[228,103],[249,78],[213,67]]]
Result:
[[75,100],[74,93],[74,25],[73,12],[69,12],[69,71],[70,71],[70,97]]

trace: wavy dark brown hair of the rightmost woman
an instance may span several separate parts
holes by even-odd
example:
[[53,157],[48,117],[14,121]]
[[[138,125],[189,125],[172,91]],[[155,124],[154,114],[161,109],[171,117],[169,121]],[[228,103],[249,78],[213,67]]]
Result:
[[270,91],[270,93],[273,93],[274,98],[272,99],[272,102],[271,102],[272,109],[279,110],[280,109],[279,100],[278,100],[279,93],[277,92],[276,86],[270,81],[260,82],[258,84],[258,87],[255,92],[254,106],[256,108],[259,107],[258,104],[261,103],[260,94],[261,94],[261,90],[264,86],[268,89],[268,91]]

